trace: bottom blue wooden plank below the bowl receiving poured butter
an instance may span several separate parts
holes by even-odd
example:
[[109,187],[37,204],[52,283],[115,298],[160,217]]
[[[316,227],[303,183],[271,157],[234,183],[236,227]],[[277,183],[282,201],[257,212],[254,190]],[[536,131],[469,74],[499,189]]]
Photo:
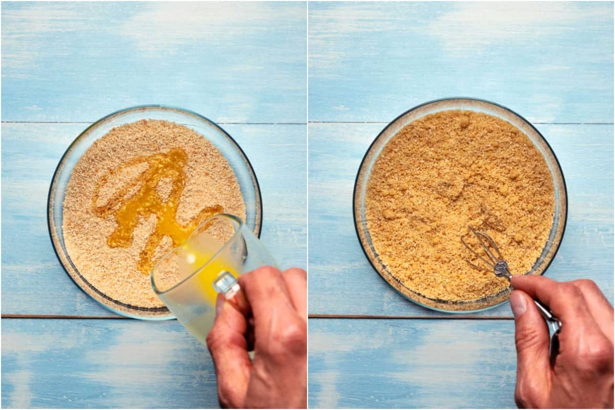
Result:
[[2,408],[217,408],[207,348],[175,321],[2,319]]

